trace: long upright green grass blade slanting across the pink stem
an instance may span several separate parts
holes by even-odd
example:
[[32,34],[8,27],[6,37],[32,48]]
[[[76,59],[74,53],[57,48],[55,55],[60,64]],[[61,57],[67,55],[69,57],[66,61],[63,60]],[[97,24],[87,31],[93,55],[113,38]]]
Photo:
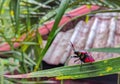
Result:
[[40,55],[39,58],[38,58],[38,62],[37,62],[37,65],[35,66],[34,71],[37,71],[37,70],[38,70],[39,65],[40,65],[40,63],[41,63],[41,61],[42,61],[42,58],[44,57],[44,55],[45,55],[45,53],[47,52],[50,44],[52,43],[52,41],[53,41],[53,39],[54,39],[55,31],[57,30],[58,24],[59,24],[59,22],[60,22],[60,20],[61,20],[61,18],[62,18],[62,16],[63,16],[65,10],[67,9],[67,6],[68,6],[68,4],[69,4],[69,1],[70,1],[70,0],[62,0],[62,2],[61,2],[61,4],[60,4],[60,7],[59,7],[59,9],[58,9],[58,13],[57,13],[57,15],[56,15],[56,19],[55,19],[55,23],[54,23],[54,25],[53,25],[52,31],[50,32],[50,35],[49,35],[49,37],[48,37],[47,44],[46,44],[43,52],[41,53],[41,55]]

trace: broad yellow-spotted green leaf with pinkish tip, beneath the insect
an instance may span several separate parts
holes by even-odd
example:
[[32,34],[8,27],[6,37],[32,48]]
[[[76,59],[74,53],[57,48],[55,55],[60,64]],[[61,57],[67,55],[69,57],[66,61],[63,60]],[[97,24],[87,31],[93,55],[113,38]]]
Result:
[[55,77],[56,79],[80,79],[114,74],[120,71],[120,57],[85,63],[83,65],[64,66],[21,75],[5,75],[8,78]]

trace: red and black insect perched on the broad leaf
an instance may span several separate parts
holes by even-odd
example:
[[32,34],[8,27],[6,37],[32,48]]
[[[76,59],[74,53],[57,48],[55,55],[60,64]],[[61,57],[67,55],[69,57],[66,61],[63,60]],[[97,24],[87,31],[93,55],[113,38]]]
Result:
[[[91,54],[89,54],[87,51],[76,51],[72,42],[70,42],[74,51],[74,54],[76,54],[76,56],[71,56],[72,58],[78,58],[76,61],[81,60],[83,63],[92,63],[94,62],[94,58],[91,56]],[[81,62],[81,64],[82,64]]]

